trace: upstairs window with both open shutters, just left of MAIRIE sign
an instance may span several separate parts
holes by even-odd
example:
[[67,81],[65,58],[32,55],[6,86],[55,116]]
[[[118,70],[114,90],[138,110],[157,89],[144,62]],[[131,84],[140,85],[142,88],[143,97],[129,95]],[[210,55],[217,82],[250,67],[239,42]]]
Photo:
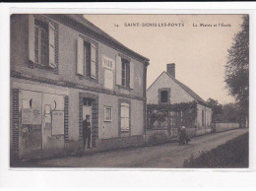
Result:
[[96,45],[79,36],[77,51],[77,73],[96,79]]

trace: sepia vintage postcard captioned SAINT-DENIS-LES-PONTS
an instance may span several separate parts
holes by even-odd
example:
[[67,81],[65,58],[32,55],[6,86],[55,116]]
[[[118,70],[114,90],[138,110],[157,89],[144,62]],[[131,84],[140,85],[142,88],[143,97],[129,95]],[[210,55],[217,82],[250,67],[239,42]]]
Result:
[[248,168],[247,14],[12,14],[10,167]]

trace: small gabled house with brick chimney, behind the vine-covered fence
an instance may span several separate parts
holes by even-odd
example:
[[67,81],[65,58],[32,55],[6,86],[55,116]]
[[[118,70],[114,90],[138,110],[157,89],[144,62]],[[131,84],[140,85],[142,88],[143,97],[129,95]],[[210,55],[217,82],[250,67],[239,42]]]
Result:
[[212,108],[206,101],[187,86],[175,79],[175,64],[167,64],[158,79],[147,90],[147,103],[174,104],[181,102],[197,102],[197,115],[191,133],[201,135],[211,132]]

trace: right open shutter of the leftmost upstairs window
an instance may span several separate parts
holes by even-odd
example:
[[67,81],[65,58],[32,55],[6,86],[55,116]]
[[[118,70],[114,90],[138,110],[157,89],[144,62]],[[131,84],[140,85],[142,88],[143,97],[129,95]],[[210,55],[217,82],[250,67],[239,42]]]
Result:
[[54,26],[49,23],[48,26],[48,32],[49,32],[49,67],[55,68],[55,28]]

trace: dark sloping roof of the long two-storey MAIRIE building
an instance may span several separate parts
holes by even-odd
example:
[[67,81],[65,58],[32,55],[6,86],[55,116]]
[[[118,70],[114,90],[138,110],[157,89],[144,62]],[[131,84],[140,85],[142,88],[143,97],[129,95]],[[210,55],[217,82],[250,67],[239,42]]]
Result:
[[102,30],[100,30],[99,28],[97,28],[93,23],[91,23],[90,21],[88,21],[83,15],[80,14],[69,14],[67,15],[67,17],[69,17],[70,19],[72,19],[75,22],[78,22],[80,24],[82,24],[83,26],[85,26],[86,28],[89,28],[90,30],[92,30],[93,32],[96,32],[97,34],[105,37],[106,39],[112,41],[114,44],[124,48],[125,50],[128,50],[129,52],[132,52],[133,54],[136,54],[137,56],[141,57],[143,60],[149,62],[150,59],[147,57],[142,56],[141,54],[129,49],[128,47],[126,47],[125,45],[123,45],[121,42],[119,42],[118,40],[116,40],[115,38],[113,38],[112,36],[110,36],[108,33],[103,32]]

